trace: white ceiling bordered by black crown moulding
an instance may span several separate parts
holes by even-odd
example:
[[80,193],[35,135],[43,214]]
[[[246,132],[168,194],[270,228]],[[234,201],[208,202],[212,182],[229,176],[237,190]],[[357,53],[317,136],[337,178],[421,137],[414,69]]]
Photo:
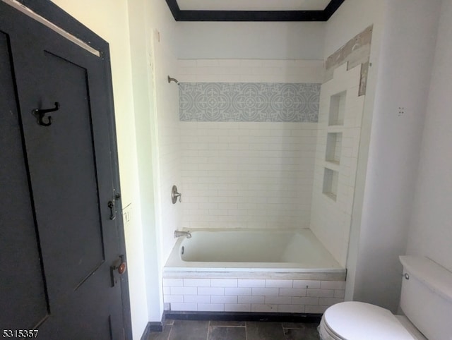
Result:
[[326,21],[345,0],[166,0],[177,21]]

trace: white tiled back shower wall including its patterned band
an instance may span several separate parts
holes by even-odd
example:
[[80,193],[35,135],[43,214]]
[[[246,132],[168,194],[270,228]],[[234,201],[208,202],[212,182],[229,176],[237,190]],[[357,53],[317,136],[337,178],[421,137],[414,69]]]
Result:
[[179,60],[178,77],[182,227],[309,228],[323,62]]

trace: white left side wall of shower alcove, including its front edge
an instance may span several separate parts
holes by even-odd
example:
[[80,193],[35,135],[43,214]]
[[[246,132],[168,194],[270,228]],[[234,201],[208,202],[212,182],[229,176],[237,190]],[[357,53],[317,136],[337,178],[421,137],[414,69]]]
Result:
[[180,182],[178,89],[167,83],[167,75],[177,72],[175,21],[163,1],[129,0],[129,8],[133,92],[141,98],[136,133],[148,319],[155,322],[163,312],[162,267],[182,214],[170,199],[172,185]]

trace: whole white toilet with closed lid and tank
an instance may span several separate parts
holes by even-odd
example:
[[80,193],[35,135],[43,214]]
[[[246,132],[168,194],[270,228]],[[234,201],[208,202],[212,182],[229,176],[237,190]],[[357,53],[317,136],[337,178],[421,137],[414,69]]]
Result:
[[322,340],[452,340],[452,273],[427,257],[400,256],[403,315],[361,302],[343,302],[323,314]]

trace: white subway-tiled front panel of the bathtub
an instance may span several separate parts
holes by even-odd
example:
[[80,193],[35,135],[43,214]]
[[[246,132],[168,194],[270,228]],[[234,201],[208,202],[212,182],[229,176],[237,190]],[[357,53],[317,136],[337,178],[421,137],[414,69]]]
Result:
[[344,300],[345,281],[163,279],[167,310],[323,313]]

